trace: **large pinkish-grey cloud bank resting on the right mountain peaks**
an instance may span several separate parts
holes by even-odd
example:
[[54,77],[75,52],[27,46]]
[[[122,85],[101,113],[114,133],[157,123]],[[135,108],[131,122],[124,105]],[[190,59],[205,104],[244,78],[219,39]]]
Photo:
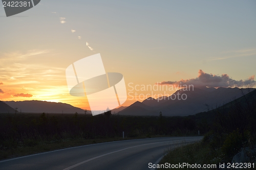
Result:
[[161,83],[156,83],[159,85],[194,85],[195,87],[253,87],[256,86],[256,81],[254,81],[254,76],[249,77],[246,80],[233,80],[229,78],[227,74],[221,76],[207,74],[203,70],[199,70],[199,75],[195,79],[187,79],[180,81],[163,81]]

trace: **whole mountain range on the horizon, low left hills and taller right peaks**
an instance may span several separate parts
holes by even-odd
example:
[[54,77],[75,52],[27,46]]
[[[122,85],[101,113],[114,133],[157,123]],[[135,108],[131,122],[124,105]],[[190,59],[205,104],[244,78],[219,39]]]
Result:
[[[121,106],[113,109],[112,114],[134,115],[134,116],[158,116],[160,111],[163,116],[187,116],[205,112],[222,106],[234,99],[240,98],[243,94],[253,91],[254,88],[213,88],[200,87],[190,91],[180,89],[172,96],[154,99],[147,98],[143,102],[135,102],[128,107]],[[179,95],[179,99],[178,96]],[[183,95],[183,99],[181,96]],[[174,96],[176,99],[174,100]],[[207,105],[207,106],[206,106]],[[84,110],[65,103],[55,103],[46,101],[0,101],[0,113],[83,113]],[[87,114],[91,114],[89,110]]]

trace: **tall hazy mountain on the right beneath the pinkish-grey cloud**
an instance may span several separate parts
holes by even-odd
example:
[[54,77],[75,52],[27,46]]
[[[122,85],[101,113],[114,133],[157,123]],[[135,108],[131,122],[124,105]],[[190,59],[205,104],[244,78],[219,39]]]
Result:
[[[163,100],[155,100],[148,98],[143,102],[135,102],[131,106],[123,109],[119,112],[120,115],[155,115],[158,116],[159,112],[162,112],[163,116],[187,116],[196,114],[199,112],[207,111],[207,109],[217,108],[234,99],[240,98],[243,93],[247,94],[254,88],[240,89],[240,88],[207,88],[200,87],[194,88],[194,90],[183,91],[182,89],[176,91],[176,96],[186,94],[186,100],[174,99],[173,96],[169,96]],[[243,93],[242,93],[243,91]],[[185,95],[183,95],[185,98]],[[184,99],[183,98],[183,99]],[[208,108],[206,106],[208,105]]]

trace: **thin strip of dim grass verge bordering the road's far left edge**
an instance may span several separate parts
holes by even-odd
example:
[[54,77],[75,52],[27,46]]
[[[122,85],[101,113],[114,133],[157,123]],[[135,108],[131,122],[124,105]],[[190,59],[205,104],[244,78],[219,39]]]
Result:
[[[152,137],[167,137],[162,135],[155,135]],[[130,139],[143,139],[148,138],[146,136],[141,137],[114,137],[114,138],[98,138],[98,139],[63,139],[63,140],[52,140],[52,141],[41,141],[37,145],[32,147],[18,147],[7,151],[0,151],[0,160],[10,159],[20,156],[32,155],[37,153],[49,152],[54,150],[60,150],[71,147],[78,147],[87,144],[95,144],[102,142],[120,141],[120,140],[130,140]]]

